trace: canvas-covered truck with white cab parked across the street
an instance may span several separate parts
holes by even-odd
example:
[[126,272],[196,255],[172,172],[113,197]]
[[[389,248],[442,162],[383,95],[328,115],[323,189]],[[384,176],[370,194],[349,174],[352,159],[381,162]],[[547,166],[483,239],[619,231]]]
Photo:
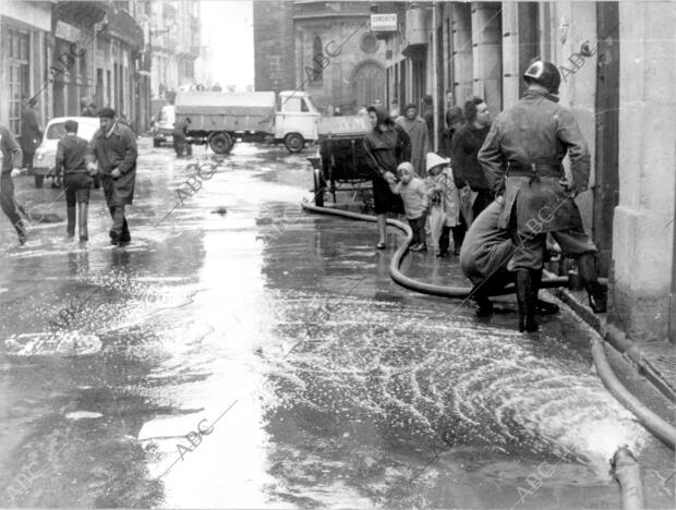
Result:
[[300,153],[317,139],[321,113],[306,93],[286,90],[253,93],[180,92],[176,120],[186,120],[186,143],[208,144],[216,154],[228,154],[236,141],[283,143]]

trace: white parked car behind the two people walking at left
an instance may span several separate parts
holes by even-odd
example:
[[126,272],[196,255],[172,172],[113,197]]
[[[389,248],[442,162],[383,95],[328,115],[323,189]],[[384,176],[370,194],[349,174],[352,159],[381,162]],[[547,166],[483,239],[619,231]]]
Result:
[[[97,117],[57,117],[47,123],[43,142],[35,150],[33,158],[33,173],[35,174],[35,185],[43,187],[46,177],[55,179],[55,170],[57,165],[57,145],[59,141],[65,136],[65,121],[74,120],[77,122],[77,136],[92,139],[94,133],[100,123]],[[98,187],[98,179],[95,179],[95,185]]]

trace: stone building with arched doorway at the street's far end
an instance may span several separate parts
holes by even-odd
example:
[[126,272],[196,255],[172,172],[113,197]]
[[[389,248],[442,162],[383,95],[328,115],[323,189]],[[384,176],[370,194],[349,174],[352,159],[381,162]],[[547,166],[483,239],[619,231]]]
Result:
[[385,100],[385,45],[369,2],[254,2],[256,90],[300,88],[343,113]]

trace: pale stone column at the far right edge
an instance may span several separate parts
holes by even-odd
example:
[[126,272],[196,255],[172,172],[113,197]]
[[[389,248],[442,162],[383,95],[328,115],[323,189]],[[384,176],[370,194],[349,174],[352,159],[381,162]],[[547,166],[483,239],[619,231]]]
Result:
[[619,205],[611,318],[664,340],[674,264],[676,83],[671,2],[619,2]]

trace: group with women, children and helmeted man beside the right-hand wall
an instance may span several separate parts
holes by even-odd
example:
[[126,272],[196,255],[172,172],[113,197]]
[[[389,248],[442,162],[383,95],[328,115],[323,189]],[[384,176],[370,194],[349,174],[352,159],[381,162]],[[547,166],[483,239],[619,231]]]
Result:
[[[539,329],[536,314],[558,311],[539,299],[547,234],[577,259],[593,312],[605,312],[606,290],[597,280],[597,250],[574,201],[588,187],[591,159],[571,112],[557,104],[560,74],[553,63],[536,61],[523,80],[526,94],[495,122],[481,98],[463,109],[449,107],[440,155],[428,151],[426,123],[413,104],[396,120],[371,106],[373,130],[364,146],[373,171],[376,247],[386,247],[388,212],[405,212],[412,251],[425,251],[430,233],[437,255],[445,256],[452,231],[479,313],[491,313],[490,296],[515,283],[519,330],[531,332]],[[571,180],[562,165],[566,155]]]

